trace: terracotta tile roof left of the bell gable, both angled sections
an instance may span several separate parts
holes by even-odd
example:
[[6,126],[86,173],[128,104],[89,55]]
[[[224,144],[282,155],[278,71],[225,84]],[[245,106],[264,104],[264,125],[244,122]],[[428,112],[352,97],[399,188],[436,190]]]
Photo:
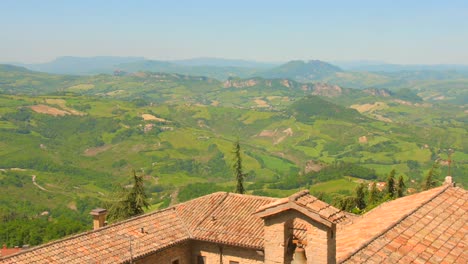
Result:
[[260,206],[275,200],[261,196],[213,193],[31,248],[0,259],[0,263],[121,263],[130,260],[130,241],[133,258],[188,239],[262,248],[263,221],[254,213]]

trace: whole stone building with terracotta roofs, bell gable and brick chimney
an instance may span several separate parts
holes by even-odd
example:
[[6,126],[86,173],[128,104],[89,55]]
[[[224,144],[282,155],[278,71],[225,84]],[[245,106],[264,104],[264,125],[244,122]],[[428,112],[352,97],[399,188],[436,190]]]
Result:
[[[0,263],[467,263],[468,193],[446,183],[356,216],[301,191],[218,192],[24,250]],[[294,259],[293,259],[294,258]]]

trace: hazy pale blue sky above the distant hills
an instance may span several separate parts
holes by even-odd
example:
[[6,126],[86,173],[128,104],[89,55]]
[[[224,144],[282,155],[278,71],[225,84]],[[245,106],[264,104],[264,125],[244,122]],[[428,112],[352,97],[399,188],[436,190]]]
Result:
[[0,61],[66,55],[468,64],[468,0],[0,1]]

